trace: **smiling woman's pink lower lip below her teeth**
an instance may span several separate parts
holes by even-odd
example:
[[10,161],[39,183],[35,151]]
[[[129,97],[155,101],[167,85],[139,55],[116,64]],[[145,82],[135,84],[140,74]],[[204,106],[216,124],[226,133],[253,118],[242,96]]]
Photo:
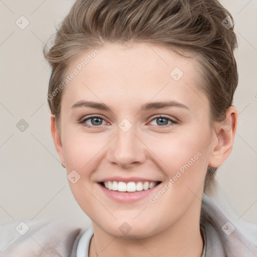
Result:
[[162,183],[158,184],[157,186],[148,189],[148,190],[142,190],[142,191],[135,191],[135,192],[119,192],[119,191],[113,191],[109,190],[99,183],[97,183],[98,186],[101,188],[103,193],[108,196],[109,198],[122,203],[129,203],[129,202],[136,202],[139,201],[147,196],[149,196],[151,193],[153,193],[154,190],[156,190]]

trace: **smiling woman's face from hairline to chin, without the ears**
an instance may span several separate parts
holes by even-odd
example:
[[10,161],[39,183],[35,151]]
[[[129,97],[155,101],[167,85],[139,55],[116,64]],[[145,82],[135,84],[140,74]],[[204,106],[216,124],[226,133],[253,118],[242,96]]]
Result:
[[70,66],[67,75],[78,74],[64,89],[55,141],[76,201],[119,237],[197,219],[217,144],[197,63],[153,44],[98,50]]

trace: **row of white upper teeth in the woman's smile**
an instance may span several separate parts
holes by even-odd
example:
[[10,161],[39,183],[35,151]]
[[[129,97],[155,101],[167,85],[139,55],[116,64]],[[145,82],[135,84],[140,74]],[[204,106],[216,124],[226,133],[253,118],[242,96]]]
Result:
[[135,192],[135,191],[142,191],[148,190],[150,188],[153,188],[157,185],[157,182],[122,182],[122,181],[105,181],[104,183],[105,188],[113,191],[119,191],[119,192]]

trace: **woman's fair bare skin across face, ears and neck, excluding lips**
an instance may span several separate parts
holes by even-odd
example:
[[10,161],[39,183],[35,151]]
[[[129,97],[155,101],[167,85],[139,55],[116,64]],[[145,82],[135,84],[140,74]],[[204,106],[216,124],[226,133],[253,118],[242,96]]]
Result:
[[[104,44],[99,54],[66,86],[61,101],[61,133],[51,116],[51,132],[67,174],[81,177],[70,184],[81,209],[92,220],[94,235],[89,256],[191,256],[200,257],[200,208],[208,166],[219,167],[229,156],[237,124],[237,110],[226,112],[226,125],[209,124],[207,96],[199,89],[197,63],[154,44],[131,46]],[[90,52],[70,65],[70,72]],[[179,67],[184,75],[175,81],[170,72]],[[80,100],[104,103],[112,111],[89,107],[72,108]],[[142,104],[174,100],[188,107],[140,111]],[[90,115],[103,119],[96,129],[79,123]],[[156,117],[165,115],[175,121]],[[124,132],[118,124],[132,124]],[[154,119],[155,118],[155,119]],[[93,126],[92,119],[84,124]],[[228,122],[228,123],[227,123]],[[170,125],[170,126],[169,126]],[[96,126],[96,125],[95,125]],[[97,182],[110,176],[146,177],[162,181],[159,190],[183,164],[198,152],[202,155],[159,198],[133,203],[108,198]],[[157,193],[153,191],[151,196]],[[127,222],[126,235],[119,227]]]

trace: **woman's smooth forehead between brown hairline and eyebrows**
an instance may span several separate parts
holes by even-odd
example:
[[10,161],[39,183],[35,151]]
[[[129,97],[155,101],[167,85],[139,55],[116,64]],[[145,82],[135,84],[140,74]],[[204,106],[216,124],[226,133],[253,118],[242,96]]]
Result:
[[162,46],[106,43],[97,51],[86,51],[71,63],[67,75],[74,71],[76,75],[65,87],[62,98],[69,104],[87,97],[98,101],[102,97],[101,100],[114,103],[125,96],[133,104],[153,97],[199,100],[205,95],[199,90],[198,67],[193,58]]

